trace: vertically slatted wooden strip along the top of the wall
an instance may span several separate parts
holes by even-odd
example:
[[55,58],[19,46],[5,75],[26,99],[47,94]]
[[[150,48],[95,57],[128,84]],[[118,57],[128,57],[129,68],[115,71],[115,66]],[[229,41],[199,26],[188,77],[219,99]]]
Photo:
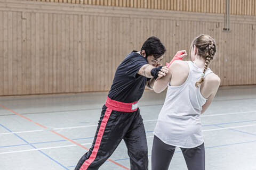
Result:
[[[20,0],[102,6],[135,7],[187,12],[225,13],[226,0]],[[256,15],[255,0],[230,0],[230,13]]]

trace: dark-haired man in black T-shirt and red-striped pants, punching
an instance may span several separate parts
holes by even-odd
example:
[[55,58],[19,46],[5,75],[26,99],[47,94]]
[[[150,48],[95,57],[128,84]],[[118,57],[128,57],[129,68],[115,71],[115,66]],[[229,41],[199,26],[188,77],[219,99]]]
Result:
[[106,162],[124,139],[131,170],[148,169],[147,139],[138,108],[145,86],[168,73],[159,62],[166,49],[156,37],[148,38],[140,52],[133,51],[117,67],[90,150],[79,160],[76,170],[95,170]]

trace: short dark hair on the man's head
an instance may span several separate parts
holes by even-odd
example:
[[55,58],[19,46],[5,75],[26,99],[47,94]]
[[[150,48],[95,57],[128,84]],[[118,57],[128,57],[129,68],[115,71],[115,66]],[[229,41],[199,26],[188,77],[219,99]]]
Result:
[[142,45],[140,52],[142,50],[145,50],[146,58],[149,55],[153,55],[155,58],[159,58],[166,52],[164,45],[157,37],[149,37]]

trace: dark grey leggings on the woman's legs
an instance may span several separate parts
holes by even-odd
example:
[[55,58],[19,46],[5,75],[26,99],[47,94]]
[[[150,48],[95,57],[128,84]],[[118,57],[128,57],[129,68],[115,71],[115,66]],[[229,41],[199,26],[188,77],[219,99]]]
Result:
[[[181,148],[188,170],[205,170],[204,143],[196,148]],[[175,147],[167,145],[154,136],[151,164],[152,170],[169,168]]]

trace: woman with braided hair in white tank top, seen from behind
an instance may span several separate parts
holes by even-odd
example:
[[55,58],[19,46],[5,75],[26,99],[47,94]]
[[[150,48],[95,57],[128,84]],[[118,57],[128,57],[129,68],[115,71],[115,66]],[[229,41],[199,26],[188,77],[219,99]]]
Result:
[[220,85],[220,78],[208,67],[215,53],[214,39],[200,35],[191,44],[191,61],[174,61],[169,73],[155,82],[155,92],[167,86],[168,90],[154,130],[152,170],[168,169],[175,147],[181,148],[189,170],[205,169],[199,116],[209,107]]

